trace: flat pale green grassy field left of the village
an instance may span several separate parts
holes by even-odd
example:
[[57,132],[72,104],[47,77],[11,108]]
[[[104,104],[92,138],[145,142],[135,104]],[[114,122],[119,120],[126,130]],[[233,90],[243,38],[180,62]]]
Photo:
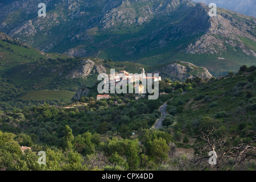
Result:
[[23,96],[18,97],[19,100],[60,100],[71,101],[71,98],[76,92],[67,90],[40,90],[35,92],[28,92]]

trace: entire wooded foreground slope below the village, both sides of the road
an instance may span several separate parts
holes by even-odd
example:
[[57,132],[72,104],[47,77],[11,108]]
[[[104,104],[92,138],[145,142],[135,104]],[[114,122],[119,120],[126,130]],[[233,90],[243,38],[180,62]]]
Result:
[[[7,111],[0,114],[0,154],[7,154],[1,156],[5,160],[0,168],[255,170],[255,71],[255,66],[241,67],[236,75],[220,79],[160,81],[164,90],[171,84],[174,92],[158,100],[113,94],[108,100],[82,97],[62,106]],[[186,89],[189,85],[191,89]],[[158,108],[166,102],[164,127],[150,129],[161,117]],[[20,146],[31,151],[22,154]],[[51,163],[35,162],[41,150],[54,156],[47,158]],[[208,163],[210,150],[217,152],[216,165]]]

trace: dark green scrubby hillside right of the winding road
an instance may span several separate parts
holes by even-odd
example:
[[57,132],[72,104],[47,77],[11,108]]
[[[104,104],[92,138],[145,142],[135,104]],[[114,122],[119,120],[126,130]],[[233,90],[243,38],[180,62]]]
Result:
[[[255,79],[255,67],[251,67],[207,84],[199,82],[199,87],[168,102],[167,111],[175,116],[184,134],[196,135],[199,126],[214,126],[219,134],[237,137],[232,140],[237,142],[246,137],[246,131],[255,130]],[[204,117],[212,118],[212,122],[204,123]]]

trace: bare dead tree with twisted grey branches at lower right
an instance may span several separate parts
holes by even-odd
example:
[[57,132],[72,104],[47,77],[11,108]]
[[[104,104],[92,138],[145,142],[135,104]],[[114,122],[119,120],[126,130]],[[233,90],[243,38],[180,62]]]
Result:
[[[250,134],[254,133],[253,140],[247,143],[240,140],[237,146],[230,144],[228,135],[214,136],[214,127],[206,131],[203,131],[200,127],[199,131],[200,135],[196,137],[203,140],[204,144],[200,144],[197,147],[199,157],[190,161],[195,167],[203,170],[207,168],[213,170],[241,170],[246,162],[249,162],[252,157],[256,156],[256,149],[253,146],[256,142],[255,131],[250,131]],[[208,163],[210,159],[210,156],[208,156],[209,151],[213,151],[216,154],[215,164],[210,165]],[[232,165],[229,164],[230,161],[233,163]]]

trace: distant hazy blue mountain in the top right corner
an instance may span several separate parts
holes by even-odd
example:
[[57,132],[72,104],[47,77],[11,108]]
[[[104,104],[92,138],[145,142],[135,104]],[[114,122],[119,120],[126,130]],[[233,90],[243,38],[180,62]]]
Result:
[[193,2],[203,2],[207,5],[216,3],[217,7],[256,17],[254,8],[256,6],[256,1],[254,0],[193,0]]

